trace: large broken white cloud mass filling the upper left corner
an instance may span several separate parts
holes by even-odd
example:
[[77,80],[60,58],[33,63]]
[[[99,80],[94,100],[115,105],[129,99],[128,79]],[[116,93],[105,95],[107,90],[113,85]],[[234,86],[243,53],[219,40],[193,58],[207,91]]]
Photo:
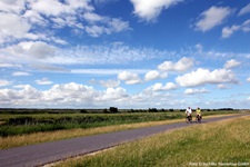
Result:
[[68,27],[72,35],[83,31],[93,37],[131,30],[128,21],[94,13],[89,0],[4,0],[0,11],[0,43],[31,39],[66,45],[49,27]]

